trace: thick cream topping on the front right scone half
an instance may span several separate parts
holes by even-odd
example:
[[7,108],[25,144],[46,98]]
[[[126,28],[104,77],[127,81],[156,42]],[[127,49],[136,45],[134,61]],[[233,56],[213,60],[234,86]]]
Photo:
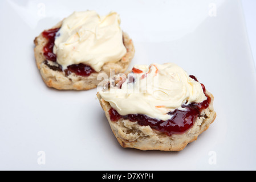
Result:
[[[175,109],[182,105],[206,100],[199,82],[173,63],[135,65],[139,72],[131,72],[120,85],[109,90],[100,90],[103,100],[121,115],[145,114],[166,121]],[[134,78],[134,82],[132,81]]]

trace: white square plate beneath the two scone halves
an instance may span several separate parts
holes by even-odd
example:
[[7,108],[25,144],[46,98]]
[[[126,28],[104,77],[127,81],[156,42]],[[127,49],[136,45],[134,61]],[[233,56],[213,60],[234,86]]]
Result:
[[[122,148],[96,89],[44,85],[35,36],[87,9],[120,14],[135,43],[131,67],[173,62],[213,93],[216,121],[196,142],[180,152]],[[9,0],[0,22],[0,169],[256,169],[256,74],[240,1]]]

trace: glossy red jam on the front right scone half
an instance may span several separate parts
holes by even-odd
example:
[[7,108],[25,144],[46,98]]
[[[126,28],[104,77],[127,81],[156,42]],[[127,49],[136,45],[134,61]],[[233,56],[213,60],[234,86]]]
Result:
[[[194,80],[196,77],[190,76]],[[197,81],[197,80],[196,80]],[[202,89],[205,93],[205,86],[203,84]],[[179,134],[184,133],[186,130],[190,129],[193,126],[194,121],[196,121],[197,117],[200,115],[203,109],[206,109],[211,101],[211,98],[205,93],[207,99],[201,103],[192,103],[189,105],[183,105],[183,108],[186,110],[174,110],[173,112],[169,112],[169,115],[173,117],[166,121],[162,121],[155,118],[150,118],[144,114],[128,114],[128,115],[120,115],[113,108],[109,109],[108,113],[110,115],[111,121],[117,121],[120,118],[129,119],[132,122],[136,122],[140,126],[150,126],[152,129],[161,131],[166,135]]]

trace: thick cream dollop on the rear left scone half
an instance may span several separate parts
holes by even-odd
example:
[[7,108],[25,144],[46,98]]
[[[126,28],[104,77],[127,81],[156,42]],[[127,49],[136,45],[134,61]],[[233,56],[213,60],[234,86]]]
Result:
[[54,43],[57,62],[63,69],[83,63],[99,72],[105,63],[119,61],[127,52],[115,12],[105,16],[95,11],[74,12],[63,20]]

